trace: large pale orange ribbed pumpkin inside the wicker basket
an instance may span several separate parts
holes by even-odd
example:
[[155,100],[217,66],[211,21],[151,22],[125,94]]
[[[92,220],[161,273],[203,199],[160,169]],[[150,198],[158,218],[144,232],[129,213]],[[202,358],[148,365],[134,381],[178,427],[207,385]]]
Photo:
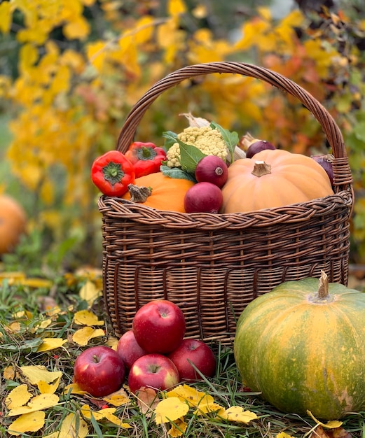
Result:
[[236,160],[223,186],[222,213],[271,209],[333,195],[329,176],[312,158],[262,150]]

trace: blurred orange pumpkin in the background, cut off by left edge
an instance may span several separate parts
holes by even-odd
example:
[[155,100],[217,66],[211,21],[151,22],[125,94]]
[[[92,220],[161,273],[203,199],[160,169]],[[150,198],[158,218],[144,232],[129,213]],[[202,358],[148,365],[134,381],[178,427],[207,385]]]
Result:
[[25,232],[27,218],[20,204],[8,195],[0,195],[0,254],[10,253]]

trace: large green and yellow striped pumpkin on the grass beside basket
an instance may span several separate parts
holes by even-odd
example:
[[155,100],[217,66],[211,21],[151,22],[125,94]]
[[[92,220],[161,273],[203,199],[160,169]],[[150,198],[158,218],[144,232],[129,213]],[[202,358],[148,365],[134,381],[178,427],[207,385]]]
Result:
[[323,420],[365,409],[365,293],[305,278],[254,299],[237,321],[242,383],[280,411]]

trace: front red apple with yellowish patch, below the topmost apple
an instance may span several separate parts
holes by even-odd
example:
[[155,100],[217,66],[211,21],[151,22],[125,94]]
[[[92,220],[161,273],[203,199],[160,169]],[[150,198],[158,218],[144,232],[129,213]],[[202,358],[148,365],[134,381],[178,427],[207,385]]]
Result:
[[130,368],[128,385],[132,393],[141,388],[165,390],[179,384],[179,372],[174,362],[158,353],[151,353],[137,359]]

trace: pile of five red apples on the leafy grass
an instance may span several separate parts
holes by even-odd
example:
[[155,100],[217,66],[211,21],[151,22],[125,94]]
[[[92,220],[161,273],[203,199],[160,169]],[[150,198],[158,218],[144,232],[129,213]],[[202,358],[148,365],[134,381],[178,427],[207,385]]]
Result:
[[116,350],[92,346],[76,358],[74,383],[93,397],[105,397],[120,389],[126,376],[134,394],[142,388],[167,390],[214,376],[212,349],[198,339],[184,338],[185,332],[179,306],[153,300],[137,311],[132,330],[120,337]]

